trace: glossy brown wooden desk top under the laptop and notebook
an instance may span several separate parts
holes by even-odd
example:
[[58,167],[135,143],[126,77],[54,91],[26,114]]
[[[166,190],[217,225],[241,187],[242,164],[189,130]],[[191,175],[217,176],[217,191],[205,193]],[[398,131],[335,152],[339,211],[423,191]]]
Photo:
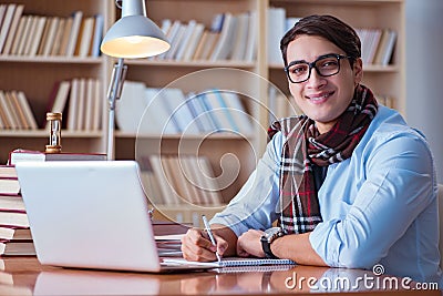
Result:
[[[0,295],[259,295],[259,294],[309,294],[308,280],[312,278],[333,283],[338,277],[348,278],[352,285],[371,272],[358,269],[295,266],[287,271],[248,272],[217,274],[198,272],[187,274],[148,274],[59,268],[41,266],[34,257],[9,257],[0,259]],[[291,288],[296,278],[299,287]],[[301,280],[301,278],[305,278]],[[381,278],[379,278],[381,279]],[[359,287],[342,288],[349,295],[441,295],[439,290],[395,289],[375,279],[369,280],[374,288],[369,289],[363,280]],[[285,284],[286,283],[286,284]],[[320,284],[320,282],[317,282]],[[399,282],[399,285],[401,283]],[[377,288],[379,285],[379,288]],[[289,286],[289,287],[287,287]],[[312,290],[319,294],[318,290]],[[357,293],[359,292],[359,293]],[[321,294],[320,294],[321,295]],[[328,295],[331,295],[328,293]]]

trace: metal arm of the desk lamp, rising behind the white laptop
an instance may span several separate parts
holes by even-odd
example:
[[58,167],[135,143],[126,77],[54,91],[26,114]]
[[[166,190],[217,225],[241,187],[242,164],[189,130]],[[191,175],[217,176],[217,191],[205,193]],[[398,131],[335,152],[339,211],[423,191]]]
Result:
[[114,121],[115,121],[115,101],[122,95],[123,83],[126,78],[127,65],[124,60],[119,59],[112,70],[110,89],[107,90],[109,102],[109,124],[107,124],[107,160],[114,160]]

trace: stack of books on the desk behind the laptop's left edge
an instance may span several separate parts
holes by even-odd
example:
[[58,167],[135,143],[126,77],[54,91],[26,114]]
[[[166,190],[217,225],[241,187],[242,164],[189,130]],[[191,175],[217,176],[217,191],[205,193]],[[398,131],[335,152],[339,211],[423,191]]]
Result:
[[0,166],[0,256],[34,256],[14,166]]

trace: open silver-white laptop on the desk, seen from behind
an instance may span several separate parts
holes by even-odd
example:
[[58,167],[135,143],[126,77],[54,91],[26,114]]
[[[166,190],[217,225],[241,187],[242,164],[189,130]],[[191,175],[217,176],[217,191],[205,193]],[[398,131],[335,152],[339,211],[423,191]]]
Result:
[[41,264],[135,272],[205,268],[159,258],[136,162],[22,162],[16,169]]

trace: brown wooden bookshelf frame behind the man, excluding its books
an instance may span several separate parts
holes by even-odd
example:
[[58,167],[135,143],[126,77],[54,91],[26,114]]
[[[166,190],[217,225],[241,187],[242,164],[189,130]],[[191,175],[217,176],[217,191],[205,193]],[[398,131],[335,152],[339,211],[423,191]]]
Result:
[[[111,0],[53,1],[53,0],[0,0],[0,4],[24,4],[23,14],[56,16],[68,18],[81,10],[83,16],[101,13],[104,28],[120,17],[120,10]],[[223,197],[229,201],[240,188],[266,146],[266,130],[270,120],[268,106],[269,86],[289,96],[287,79],[279,63],[267,58],[267,11],[282,8],[287,17],[311,13],[329,13],[349,22],[354,28],[392,29],[398,33],[392,63],[389,65],[364,64],[363,83],[375,93],[393,98],[393,105],[405,113],[404,95],[404,0],[148,0],[147,14],[158,25],[164,19],[187,23],[196,20],[206,29],[213,25],[217,13],[234,16],[255,12],[256,42],[251,60],[125,60],[128,65],[126,81],[140,81],[150,88],[174,86],[184,92],[198,92],[219,88],[241,93],[241,102],[253,120],[250,134],[214,133],[209,135],[135,134],[115,133],[115,157],[138,159],[144,154],[199,154],[207,156],[217,177],[228,183]],[[276,44],[277,47],[279,44]],[[0,54],[0,90],[24,91],[35,118],[42,122],[50,92],[55,81],[73,78],[94,78],[101,82],[103,102],[114,59],[92,57],[27,57]],[[89,131],[62,131],[63,151],[106,151],[106,115],[103,108],[103,129]],[[48,142],[47,131],[0,131],[0,161],[6,162],[12,149],[43,150]],[[175,210],[174,210],[175,211]]]

